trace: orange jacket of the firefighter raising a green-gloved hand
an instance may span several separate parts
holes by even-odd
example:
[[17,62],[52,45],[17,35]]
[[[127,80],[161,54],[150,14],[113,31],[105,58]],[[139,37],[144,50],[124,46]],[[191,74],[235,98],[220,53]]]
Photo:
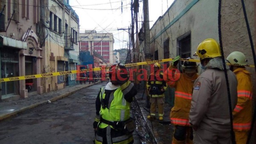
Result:
[[198,75],[195,74],[192,78],[189,78],[184,74],[172,73],[173,76],[170,75],[172,78],[179,77],[176,81],[172,81],[168,77],[168,73],[174,72],[175,70],[177,70],[177,67],[169,66],[164,73],[166,83],[175,88],[174,107],[172,107],[170,114],[171,123],[174,125],[189,126],[189,110],[191,107],[192,89]]

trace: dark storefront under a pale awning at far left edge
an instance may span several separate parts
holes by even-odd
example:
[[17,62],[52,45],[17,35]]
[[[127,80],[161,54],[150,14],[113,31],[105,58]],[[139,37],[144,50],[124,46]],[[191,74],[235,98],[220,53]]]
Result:
[[[0,46],[1,78],[20,76],[19,52],[27,48],[27,43],[0,35],[3,46]],[[7,81],[0,84],[1,99],[20,95],[20,81]]]

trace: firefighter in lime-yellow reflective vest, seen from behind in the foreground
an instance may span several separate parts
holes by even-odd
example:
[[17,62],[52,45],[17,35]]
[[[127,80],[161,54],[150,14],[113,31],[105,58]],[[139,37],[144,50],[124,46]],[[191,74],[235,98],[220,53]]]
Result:
[[132,144],[134,121],[130,118],[130,103],[137,94],[128,80],[126,67],[116,63],[109,70],[109,82],[96,98],[96,118],[93,128],[96,144]]

